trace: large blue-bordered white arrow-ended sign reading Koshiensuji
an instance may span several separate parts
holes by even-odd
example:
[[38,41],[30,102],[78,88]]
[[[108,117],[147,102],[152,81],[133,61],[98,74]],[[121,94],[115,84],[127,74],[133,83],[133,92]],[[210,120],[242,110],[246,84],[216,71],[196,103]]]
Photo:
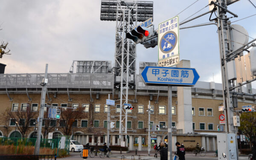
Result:
[[193,86],[199,79],[195,68],[150,67],[141,73],[145,83]]

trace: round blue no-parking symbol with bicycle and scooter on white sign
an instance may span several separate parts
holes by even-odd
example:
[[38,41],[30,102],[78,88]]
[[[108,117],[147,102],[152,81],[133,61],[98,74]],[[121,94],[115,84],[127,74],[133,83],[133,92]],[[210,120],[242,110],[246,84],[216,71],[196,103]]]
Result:
[[177,35],[173,31],[166,32],[160,40],[160,50],[163,53],[171,52],[177,44]]

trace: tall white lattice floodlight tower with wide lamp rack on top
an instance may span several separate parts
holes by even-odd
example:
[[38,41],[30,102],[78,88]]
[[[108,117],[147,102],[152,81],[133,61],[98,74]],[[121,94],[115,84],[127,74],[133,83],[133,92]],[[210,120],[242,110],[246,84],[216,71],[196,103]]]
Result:
[[[135,87],[136,77],[136,44],[125,35],[137,26],[137,22],[148,18],[153,18],[152,1],[102,0],[100,20],[116,20],[115,87],[120,91],[120,135],[123,132],[122,121],[125,122],[124,133],[127,134],[128,111],[124,111],[122,106],[128,103],[128,90]],[[125,113],[124,118],[122,112]]]

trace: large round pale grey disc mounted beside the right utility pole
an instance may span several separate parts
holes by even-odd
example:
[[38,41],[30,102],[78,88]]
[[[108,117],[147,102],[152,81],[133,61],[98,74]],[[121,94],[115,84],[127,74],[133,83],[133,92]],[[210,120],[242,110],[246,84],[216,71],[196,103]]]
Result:
[[248,32],[244,27],[233,24],[231,25],[232,29],[230,29],[230,39],[231,41],[231,48],[233,51],[239,49],[240,47],[245,47],[245,44],[249,41]]

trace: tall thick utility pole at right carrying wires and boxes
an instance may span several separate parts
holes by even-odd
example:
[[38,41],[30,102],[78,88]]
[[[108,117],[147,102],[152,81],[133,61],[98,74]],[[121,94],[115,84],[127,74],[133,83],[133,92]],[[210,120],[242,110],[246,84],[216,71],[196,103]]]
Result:
[[[235,134],[235,128],[233,126],[233,112],[231,111],[231,108],[233,108],[231,104],[230,99],[230,87],[231,87],[231,81],[228,80],[227,77],[227,54],[230,53],[230,45],[228,40],[231,39],[229,36],[229,26],[227,24],[227,0],[220,0],[220,3],[214,3],[217,6],[217,12],[218,12],[218,38],[219,38],[219,49],[220,49],[220,62],[221,62],[221,77],[222,77],[222,89],[223,89],[223,105],[225,108],[224,115],[225,115],[225,136],[227,140],[227,148],[229,148],[228,145],[228,134],[232,133]],[[229,12],[230,14],[234,15],[235,17],[238,17],[237,15],[233,14],[232,12]],[[236,136],[236,135],[235,135]],[[236,137],[234,138],[235,141],[237,141]],[[237,143],[236,143],[237,144]],[[231,149],[227,149],[227,160],[231,159],[231,153],[235,153]],[[236,158],[238,158],[238,153],[236,151]]]

